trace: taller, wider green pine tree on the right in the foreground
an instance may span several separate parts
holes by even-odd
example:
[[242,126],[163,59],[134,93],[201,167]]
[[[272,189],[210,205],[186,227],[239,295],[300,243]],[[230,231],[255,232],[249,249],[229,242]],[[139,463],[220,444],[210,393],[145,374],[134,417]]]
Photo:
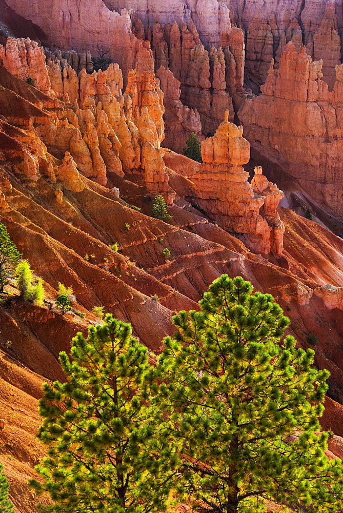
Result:
[[203,513],[266,511],[265,499],[337,511],[342,463],[325,456],[328,433],[315,434],[329,372],[282,339],[289,319],[243,278],[224,274],[199,305],[173,318],[158,360],[184,502]]

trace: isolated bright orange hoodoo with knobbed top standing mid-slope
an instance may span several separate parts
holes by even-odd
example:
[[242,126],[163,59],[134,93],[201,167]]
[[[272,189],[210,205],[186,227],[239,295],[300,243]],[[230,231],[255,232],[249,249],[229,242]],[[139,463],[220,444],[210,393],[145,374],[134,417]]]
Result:
[[201,156],[204,164],[190,177],[196,204],[253,251],[280,255],[285,228],[276,207],[284,194],[261,168],[249,184],[243,165],[249,162],[250,144],[243,128],[229,122],[228,112],[214,136],[201,143]]

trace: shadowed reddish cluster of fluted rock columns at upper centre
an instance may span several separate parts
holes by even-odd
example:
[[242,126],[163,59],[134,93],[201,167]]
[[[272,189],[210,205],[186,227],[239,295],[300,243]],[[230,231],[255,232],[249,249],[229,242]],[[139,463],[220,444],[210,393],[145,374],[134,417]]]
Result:
[[[155,33],[158,37],[154,37]],[[163,46],[164,41],[167,44]],[[159,65],[166,67],[164,63],[169,65],[180,82],[180,100],[198,111],[205,134],[214,133],[226,110],[233,120],[232,98],[244,95],[243,31],[231,27],[228,19],[226,31],[220,34],[220,43],[221,46],[207,50],[193,21],[187,26],[174,22],[163,28],[154,24],[152,49],[156,69]]]

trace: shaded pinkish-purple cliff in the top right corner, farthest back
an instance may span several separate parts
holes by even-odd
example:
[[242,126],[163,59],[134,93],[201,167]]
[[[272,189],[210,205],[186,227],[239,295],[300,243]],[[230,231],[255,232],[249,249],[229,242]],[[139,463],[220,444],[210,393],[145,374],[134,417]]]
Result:
[[268,73],[271,58],[278,61],[289,41],[299,47],[304,41],[307,53],[323,60],[323,74],[333,86],[335,65],[339,64],[343,30],[340,0],[228,0],[234,23],[247,34],[246,72],[261,85]]

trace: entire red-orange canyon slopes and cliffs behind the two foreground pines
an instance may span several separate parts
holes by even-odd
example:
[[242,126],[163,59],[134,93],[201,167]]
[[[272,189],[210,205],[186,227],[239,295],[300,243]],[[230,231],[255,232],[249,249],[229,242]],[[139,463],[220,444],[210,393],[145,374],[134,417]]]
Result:
[[[271,293],[330,371],[320,422],[341,458],[341,6],[310,27],[309,2],[190,3],[190,14],[176,2],[167,16],[98,0],[88,27],[81,0],[61,27],[48,4],[0,0],[0,221],[46,291],[43,306],[14,280],[0,294],[0,460],[15,510],[36,510],[42,383],[64,380],[58,353],[99,322],[92,308],[158,353],[173,313],[197,309],[223,273]],[[93,71],[101,45],[112,62]],[[190,132],[203,163],[183,154]],[[157,194],[168,220],[152,216]],[[55,308],[58,282],[84,318]]]

